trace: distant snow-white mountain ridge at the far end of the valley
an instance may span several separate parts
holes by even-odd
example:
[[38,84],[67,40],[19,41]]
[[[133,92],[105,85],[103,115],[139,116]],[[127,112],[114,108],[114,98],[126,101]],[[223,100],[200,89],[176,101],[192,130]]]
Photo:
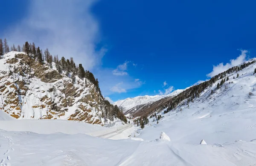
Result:
[[165,97],[175,96],[175,95],[179,94],[180,92],[183,92],[183,89],[177,89],[177,90],[173,91],[172,93],[166,94],[166,95],[137,96],[137,97],[133,97],[133,98],[127,98],[124,100],[118,100],[118,101],[114,102],[113,105],[122,106],[125,110],[129,110],[129,109],[132,109],[139,105],[153,103],[153,102],[160,100],[162,98],[165,98]]

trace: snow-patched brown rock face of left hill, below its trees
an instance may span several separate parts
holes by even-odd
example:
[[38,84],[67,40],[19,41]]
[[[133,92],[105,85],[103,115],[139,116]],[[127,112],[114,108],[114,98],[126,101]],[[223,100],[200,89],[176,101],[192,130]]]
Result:
[[[0,59],[0,109],[17,119],[66,119],[104,124],[104,98],[89,80],[60,74],[21,52]],[[0,110],[1,111],[1,110]]]

